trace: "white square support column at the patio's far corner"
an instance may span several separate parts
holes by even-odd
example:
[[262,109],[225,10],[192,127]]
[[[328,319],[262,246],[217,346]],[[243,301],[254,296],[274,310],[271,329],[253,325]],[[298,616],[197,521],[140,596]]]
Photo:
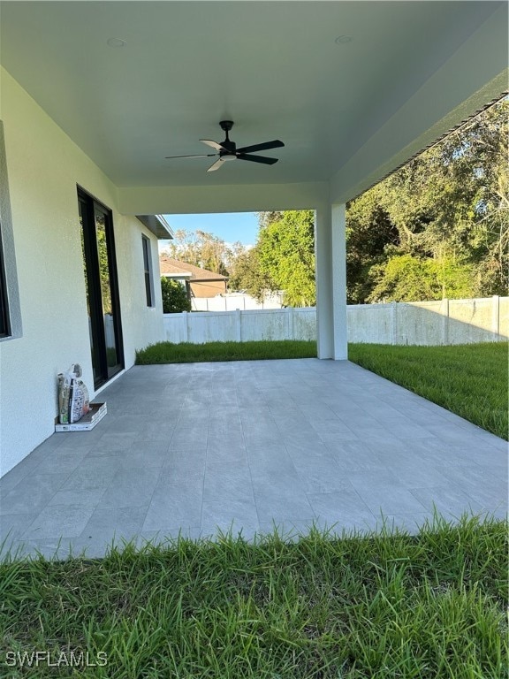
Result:
[[318,358],[348,357],[346,340],[346,206],[316,210],[316,334]]

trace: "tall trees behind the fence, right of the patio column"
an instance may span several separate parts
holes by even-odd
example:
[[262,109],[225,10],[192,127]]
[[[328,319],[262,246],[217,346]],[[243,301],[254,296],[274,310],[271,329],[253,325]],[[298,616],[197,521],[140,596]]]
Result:
[[349,301],[507,294],[508,112],[491,106],[348,203]]

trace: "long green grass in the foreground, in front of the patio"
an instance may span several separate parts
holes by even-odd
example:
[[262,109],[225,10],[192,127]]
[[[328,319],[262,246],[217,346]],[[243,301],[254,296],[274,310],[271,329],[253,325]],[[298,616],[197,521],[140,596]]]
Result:
[[[0,565],[0,674],[104,679],[490,679],[506,675],[507,531],[436,517],[247,543],[179,538],[102,561]],[[7,653],[104,667],[8,667]],[[104,655],[102,655],[104,654]],[[10,660],[11,661],[11,660]]]

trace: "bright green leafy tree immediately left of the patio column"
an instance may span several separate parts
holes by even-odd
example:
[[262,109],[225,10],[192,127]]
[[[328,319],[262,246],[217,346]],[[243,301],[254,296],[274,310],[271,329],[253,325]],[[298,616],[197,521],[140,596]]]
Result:
[[290,210],[262,213],[256,243],[260,272],[269,289],[285,292],[285,304],[313,306],[315,288],[315,213]]

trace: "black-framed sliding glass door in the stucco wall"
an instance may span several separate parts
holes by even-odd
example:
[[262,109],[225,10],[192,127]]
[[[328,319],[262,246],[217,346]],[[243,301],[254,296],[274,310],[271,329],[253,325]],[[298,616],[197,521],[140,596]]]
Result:
[[78,189],[90,350],[97,388],[124,367],[111,210]]

